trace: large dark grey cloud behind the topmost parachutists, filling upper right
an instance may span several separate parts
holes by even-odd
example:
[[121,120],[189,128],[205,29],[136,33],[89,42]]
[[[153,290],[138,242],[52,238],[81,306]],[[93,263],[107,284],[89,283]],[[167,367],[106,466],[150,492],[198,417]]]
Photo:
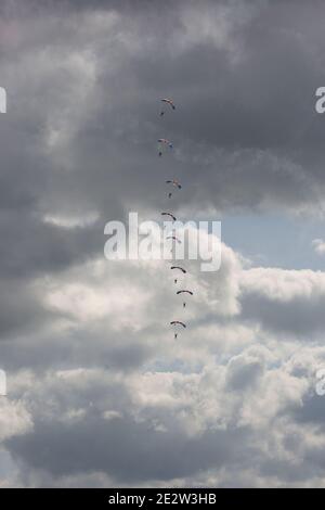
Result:
[[[118,75],[112,75],[103,62],[99,89],[110,90],[113,101],[105,101],[103,93],[101,128],[93,125],[89,132],[87,125],[83,137],[96,140],[101,148],[102,136],[112,133],[113,126],[122,133],[123,158],[117,163],[114,157],[114,164],[120,167],[115,174],[133,184],[122,191],[126,202],[139,196],[145,186],[148,203],[159,203],[153,169],[159,173],[160,165],[154,146],[156,138],[168,132],[180,150],[174,171],[192,190],[184,200],[205,201],[221,209],[314,206],[324,186],[323,118],[314,111],[314,91],[325,78],[317,46],[322,35],[315,36],[303,24],[303,8],[289,18],[289,4],[261,3],[252,10],[246,5],[249,16],[240,20],[231,8],[221,15],[217,8],[224,8],[223,2],[204,5],[206,23],[211,12],[206,35],[191,31],[193,3],[179,2],[172,21],[169,11],[150,9],[150,23],[143,11],[131,23],[122,11],[121,26],[140,50],[128,52],[117,43]],[[190,14],[184,14],[186,9]],[[225,40],[221,36],[216,41],[223,14],[229,18]],[[148,43],[142,37],[144,25]],[[104,50],[102,43],[99,48]],[[158,105],[152,105],[166,93],[173,95],[178,115],[166,115],[161,128]],[[88,157],[91,154],[88,145]],[[109,176],[116,189],[118,180]]]

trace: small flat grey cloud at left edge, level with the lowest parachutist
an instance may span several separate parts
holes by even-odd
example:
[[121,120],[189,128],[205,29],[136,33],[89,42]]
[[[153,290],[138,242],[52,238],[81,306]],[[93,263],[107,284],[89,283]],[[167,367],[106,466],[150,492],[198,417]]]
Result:
[[[24,304],[27,306],[26,301]],[[1,367],[5,367],[9,372],[32,369],[37,373],[44,373],[46,370],[75,366],[132,372],[150,361],[154,354],[153,348],[143,345],[132,331],[120,329],[116,333],[109,331],[107,324],[102,324],[98,331],[83,328],[64,331],[60,335],[47,333],[43,331],[47,322],[55,324],[62,317],[40,305],[37,307],[37,304],[30,305],[30,308],[23,309],[17,318],[12,314],[21,309],[9,302],[3,310],[4,318],[1,316],[2,339],[10,340],[1,345]],[[38,331],[37,335],[30,334],[30,328]],[[15,340],[14,334],[17,335]]]

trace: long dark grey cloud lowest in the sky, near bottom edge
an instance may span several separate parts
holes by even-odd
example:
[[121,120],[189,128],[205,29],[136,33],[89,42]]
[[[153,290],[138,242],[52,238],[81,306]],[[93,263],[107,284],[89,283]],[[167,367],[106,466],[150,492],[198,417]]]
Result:
[[235,445],[246,435],[245,430],[221,430],[186,437],[181,431],[158,432],[130,418],[107,421],[89,416],[68,426],[40,422],[35,432],[10,439],[6,446],[28,466],[56,475],[96,470],[117,482],[134,483],[220,469],[235,462]]

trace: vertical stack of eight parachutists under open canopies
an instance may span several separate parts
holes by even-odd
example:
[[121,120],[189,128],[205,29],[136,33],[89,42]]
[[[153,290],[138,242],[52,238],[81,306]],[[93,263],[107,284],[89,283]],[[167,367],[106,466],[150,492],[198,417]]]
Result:
[[[174,103],[171,99],[164,98],[160,101],[164,103],[164,107],[160,111],[160,117],[162,117],[162,115],[165,115],[165,112],[166,112],[165,106],[167,109],[170,107],[173,111],[176,110],[176,105],[174,105]],[[159,157],[161,157],[165,152],[168,152],[168,150],[170,150],[172,148],[173,148],[172,143],[169,140],[167,140],[166,138],[159,138],[158,139],[158,155],[159,155]],[[169,187],[172,186],[172,188],[176,189],[176,190],[181,190],[182,189],[182,184],[180,183],[180,181],[178,179],[166,180],[166,184],[168,184]],[[170,191],[170,188],[169,188],[168,199],[171,199],[171,197],[172,197],[172,191]],[[161,216],[169,218],[171,221],[177,221],[176,216],[170,212],[162,212]],[[174,232],[172,232],[172,234],[168,235],[166,239],[167,240],[170,239],[174,243],[181,244],[181,241],[177,238]],[[171,248],[171,252],[172,252],[172,248]],[[176,277],[174,277],[174,280],[173,280],[174,284],[178,284],[180,275],[186,275],[187,273],[186,269],[184,269],[181,266],[172,265],[170,267],[170,269],[176,273]],[[193,296],[193,292],[188,291],[186,289],[181,289],[181,290],[177,291],[177,295],[183,296],[185,298],[186,295]],[[186,307],[186,301],[183,301],[183,308],[185,308],[185,307]],[[186,324],[184,322],[182,322],[181,320],[172,320],[170,322],[170,326],[172,326],[173,328],[177,328],[177,330],[174,331],[174,339],[176,340],[178,337],[179,328],[186,328]]]

